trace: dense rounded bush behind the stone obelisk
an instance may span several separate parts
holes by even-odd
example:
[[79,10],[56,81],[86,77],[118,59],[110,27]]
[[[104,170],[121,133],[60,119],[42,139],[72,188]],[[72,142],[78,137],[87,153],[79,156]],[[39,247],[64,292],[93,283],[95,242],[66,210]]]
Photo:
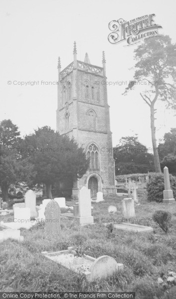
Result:
[[[170,174],[170,182],[174,198],[176,198],[176,178],[172,174]],[[162,202],[164,189],[164,174],[161,172],[150,173],[149,182],[147,184],[147,199],[149,201]]]

